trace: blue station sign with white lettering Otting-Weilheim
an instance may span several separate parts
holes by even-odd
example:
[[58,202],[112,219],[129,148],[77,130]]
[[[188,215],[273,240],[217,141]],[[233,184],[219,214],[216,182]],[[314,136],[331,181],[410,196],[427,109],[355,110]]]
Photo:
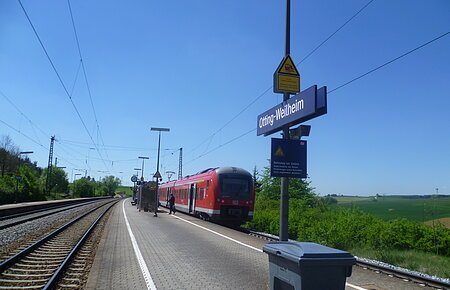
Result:
[[268,136],[284,126],[294,126],[327,113],[327,87],[308,89],[260,114],[256,135]]

